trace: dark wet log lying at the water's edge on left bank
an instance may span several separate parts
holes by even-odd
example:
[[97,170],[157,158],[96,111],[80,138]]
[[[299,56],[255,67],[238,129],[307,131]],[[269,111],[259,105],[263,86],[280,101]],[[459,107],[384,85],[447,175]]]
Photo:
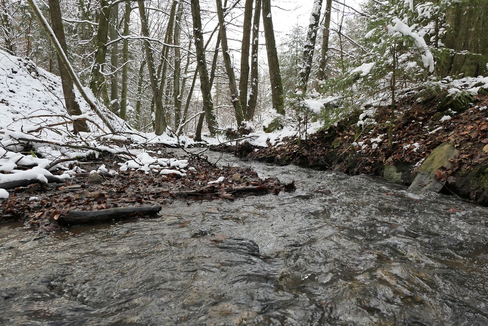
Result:
[[117,207],[97,211],[73,211],[57,218],[61,225],[83,225],[121,220],[136,216],[154,215],[161,211],[161,206]]

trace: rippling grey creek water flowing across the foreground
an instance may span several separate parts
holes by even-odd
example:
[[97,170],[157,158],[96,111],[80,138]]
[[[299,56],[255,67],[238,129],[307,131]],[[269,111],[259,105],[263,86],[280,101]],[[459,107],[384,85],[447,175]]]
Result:
[[0,227],[0,325],[488,325],[486,208],[231,164],[297,191],[43,238]]

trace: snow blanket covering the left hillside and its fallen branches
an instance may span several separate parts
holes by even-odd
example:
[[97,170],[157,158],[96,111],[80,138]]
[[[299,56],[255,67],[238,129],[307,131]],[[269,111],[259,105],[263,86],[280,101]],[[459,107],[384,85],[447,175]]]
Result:
[[[88,89],[85,91],[94,99]],[[178,170],[188,166],[187,160],[155,157],[137,147],[121,147],[110,141],[129,141],[136,146],[147,143],[187,146],[193,143],[191,138],[180,136],[178,139],[166,133],[140,133],[101,106],[103,114],[119,131],[107,134],[104,130],[108,128],[100,116],[91,110],[78,90],[75,90],[75,95],[81,114],[70,116],[64,108],[60,77],[37,67],[28,59],[0,50],[0,183],[36,178],[47,182],[45,176],[52,174],[45,168],[58,159],[66,158],[73,160],[56,164],[53,169],[65,170],[59,177],[70,178],[70,174],[76,173],[76,168],[68,170],[67,165],[79,157],[98,156],[100,151],[116,154],[122,161],[119,163],[121,171],[134,169],[169,174],[163,172],[163,168],[167,168],[171,173],[184,176]],[[72,121],[75,119],[85,119],[89,132],[74,134]],[[33,147],[33,151],[21,153],[27,148],[30,150],[28,146]],[[30,169],[22,171],[25,168]],[[107,171],[104,165],[96,172],[116,173]]]

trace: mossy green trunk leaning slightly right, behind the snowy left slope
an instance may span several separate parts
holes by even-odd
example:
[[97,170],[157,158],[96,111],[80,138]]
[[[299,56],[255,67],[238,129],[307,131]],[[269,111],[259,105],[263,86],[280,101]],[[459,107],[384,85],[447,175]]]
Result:
[[[103,90],[105,78],[103,76],[103,66],[107,53],[107,37],[109,29],[110,5],[107,0],[100,0],[100,15],[98,19],[98,31],[95,36],[95,62],[92,66],[90,89],[93,94],[100,97]],[[107,104],[107,103],[105,103]]]

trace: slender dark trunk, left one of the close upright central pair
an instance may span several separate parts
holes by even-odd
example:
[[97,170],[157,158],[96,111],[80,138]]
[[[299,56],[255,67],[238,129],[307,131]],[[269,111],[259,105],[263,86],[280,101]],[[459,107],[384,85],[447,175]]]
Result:
[[253,0],[246,0],[244,5],[244,29],[241,48],[241,77],[239,79],[239,98],[243,108],[244,119],[249,120],[247,113],[247,89],[249,80],[249,48],[251,43],[252,29],[252,3]]

